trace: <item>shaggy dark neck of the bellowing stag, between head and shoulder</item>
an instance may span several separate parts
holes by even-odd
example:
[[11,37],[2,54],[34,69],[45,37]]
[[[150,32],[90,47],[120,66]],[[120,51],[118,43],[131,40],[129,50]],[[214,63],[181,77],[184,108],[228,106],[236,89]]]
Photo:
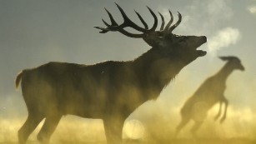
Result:
[[157,98],[163,88],[182,69],[181,62],[175,61],[175,58],[168,58],[168,62],[165,62],[164,58],[159,57],[154,51],[158,51],[157,47],[151,48],[132,62],[139,82],[150,91],[150,99]]

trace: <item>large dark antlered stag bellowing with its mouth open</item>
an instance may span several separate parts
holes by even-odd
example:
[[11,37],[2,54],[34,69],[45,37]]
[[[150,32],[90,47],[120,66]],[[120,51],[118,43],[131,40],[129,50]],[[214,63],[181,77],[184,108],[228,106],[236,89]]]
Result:
[[[82,65],[66,62],[48,62],[42,66],[25,69],[18,74],[16,87],[21,81],[23,98],[28,107],[28,119],[18,131],[18,141],[24,144],[38,123],[45,119],[38,133],[38,141],[48,143],[51,135],[63,115],[103,119],[108,143],[121,143],[123,122],[140,105],[158,97],[168,82],[178,72],[203,57],[206,52],[197,50],[207,41],[205,36],[179,36],[173,34],[182,16],[178,13],[178,22],[173,26],[171,20],[159,31],[158,18],[153,16],[153,27],[148,29],[143,17],[137,13],[144,27],[132,22],[123,9],[123,24],[118,25],[112,14],[106,9],[112,24],[96,27],[101,33],[117,31],[128,37],[143,38],[152,48],[140,57],[128,62],[100,62]],[[124,30],[132,27],[138,32]]]

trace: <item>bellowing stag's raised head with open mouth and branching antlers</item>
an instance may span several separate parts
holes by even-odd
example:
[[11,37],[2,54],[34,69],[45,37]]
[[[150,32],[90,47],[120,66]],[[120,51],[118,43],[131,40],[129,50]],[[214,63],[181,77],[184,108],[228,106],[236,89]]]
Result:
[[[147,42],[149,46],[153,47],[153,49],[157,49],[158,54],[162,55],[161,57],[177,57],[176,60],[182,62],[183,65],[187,65],[188,63],[193,62],[193,60],[195,60],[197,57],[203,57],[207,53],[203,50],[197,50],[197,48],[200,47],[204,42],[207,42],[207,38],[205,36],[180,36],[173,34],[173,29],[178,27],[182,20],[182,16],[179,12],[178,21],[173,24],[173,26],[171,26],[173,22],[173,14],[171,11],[169,11],[171,19],[165,27],[163,15],[158,12],[162,19],[162,24],[160,30],[156,31],[158,26],[158,18],[149,7],[148,10],[154,19],[153,27],[151,28],[148,28],[148,24],[143,20],[143,17],[141,17],[138,12],[135,11],[138,18],[143,23],[143,27],[139,27],[137,24],[132,22],[125,14],[123,9],[117,3],[115,4],[123,16],[123,23],[118,25],[118,23],[113,19],[112,14],[105,8],[110,18],[111,24],[108,24],[108,22],[103,20],[103,23],[107,27],[96,27],[102,30],[101,33],[118,31],[128,37],[143,38],[143,40]],[[134,30],[142,33],[128,32],[124,30],[125,27],[131,27]]]

